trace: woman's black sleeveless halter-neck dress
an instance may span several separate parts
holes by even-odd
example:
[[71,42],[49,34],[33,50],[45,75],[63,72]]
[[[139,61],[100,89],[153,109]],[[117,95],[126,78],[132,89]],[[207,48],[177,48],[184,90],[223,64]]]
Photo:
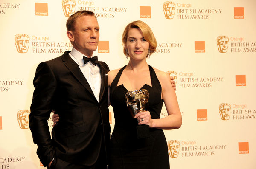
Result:
[[[151,118],[156,119],[160,118],[163,106],[161,85],[154,69],[148,66],[152,87],[145,84],[141,89],[148,90],[148,111]],[[125,67],[119,70],[111,84],[110,101],[115,127],[111,135],[109,169],[169,169],[168,147],[163,130],[150,128],[149,138],[137,139],[137,119],[131,117],[125,103],[128,90],[123,84],[116,86]]]

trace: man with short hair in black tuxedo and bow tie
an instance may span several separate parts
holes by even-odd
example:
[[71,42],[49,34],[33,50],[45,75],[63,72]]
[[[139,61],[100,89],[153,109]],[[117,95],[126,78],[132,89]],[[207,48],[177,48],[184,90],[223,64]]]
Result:
[[[38,65],[29,127],[44,166],[107,169],[109,68],[93,57],[99,25],[93,12],[78,11],[66,26],[73,49]],[[51,139],[47,120],[52,110],[61,121]]]

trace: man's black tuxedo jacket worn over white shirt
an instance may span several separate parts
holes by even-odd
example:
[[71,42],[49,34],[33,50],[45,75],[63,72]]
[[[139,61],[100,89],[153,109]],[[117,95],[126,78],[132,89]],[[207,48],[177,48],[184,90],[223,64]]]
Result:
[[[69,52],[40,63],[33,81],[35,91],[29,127],[44,166],[53,158],[92,165],[99,156],[100,147],[106,150],[110,139],[108,65],[98,64],[102,78],[98,102]],[[53,127],[51,139],[47,120],[52,110],[58,113],[60,121]]]

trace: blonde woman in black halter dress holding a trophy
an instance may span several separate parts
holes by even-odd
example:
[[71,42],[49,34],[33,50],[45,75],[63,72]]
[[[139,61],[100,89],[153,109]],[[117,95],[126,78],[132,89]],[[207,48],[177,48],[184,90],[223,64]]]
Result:
[[[168,147],[162,129],[179,128],[182,120],[169,75],[146,62],[146,57],[154,53],[157,41],[147,24],[134,21],[126,26],[122,42],[123,52],[130,60],[125,67],[108,72],[115,116],[109,169],[169,169]],[[132,118],[125,94],[140,89],[148,90],[148,111]],[[163,101],[168,116],[160,119]],[[149,126],[149,138],[137,139],[137,124]]]

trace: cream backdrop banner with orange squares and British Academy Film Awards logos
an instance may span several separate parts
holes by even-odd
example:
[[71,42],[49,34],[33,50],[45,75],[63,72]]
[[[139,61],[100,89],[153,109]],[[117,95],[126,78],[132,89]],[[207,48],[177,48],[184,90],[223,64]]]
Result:
[[[147,23],[157,39],[149,65],[175,77],[180,129],[164,130],[172,169],[256,168],[255,0],[0,0],[0,169],[42,169],[29,130],[40,62],[71,50],[67,17],[93,11],[94,56],[128,63],[122,32]],[[167,116],[165,107],[161,118]],[[110,107],[110,124],[115,120]],[[49,119],[49,129],[52,121]]]

